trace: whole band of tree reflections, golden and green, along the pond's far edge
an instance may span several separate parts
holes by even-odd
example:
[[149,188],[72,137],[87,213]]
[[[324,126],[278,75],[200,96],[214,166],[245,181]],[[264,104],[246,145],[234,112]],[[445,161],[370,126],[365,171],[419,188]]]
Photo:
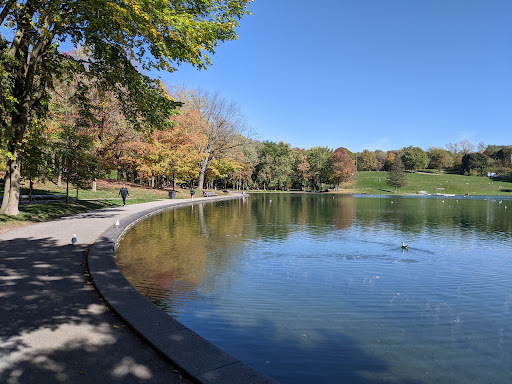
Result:
[[[152,300],[171,308],[171,297],[193,300],[233,284],[230,276],[244,268],[245,241],[285,240],[297,232],[323,235],[353,225],[404,233],[453,229],[461,239],[476,232],[509,237],[509,205],[505,209],[505,203],[493,200],[251,195],[247,201],[200,204],[154,216],[125,236],[116,258],[134,286],[143,294],[151,287]],[[216,278],[220,275],[222,279]]]

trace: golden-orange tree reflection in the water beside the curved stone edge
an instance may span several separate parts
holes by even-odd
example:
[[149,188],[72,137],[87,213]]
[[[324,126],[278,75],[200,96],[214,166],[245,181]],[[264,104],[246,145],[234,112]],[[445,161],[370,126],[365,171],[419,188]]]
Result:
[[192,300],[205,276],[229,270],[235,255],[217,250],[242,242],[241,205],[238,200],[199,204],[153,216],[124,237],[116,261],[130,283],[153,302],[172,307],[169,297]]

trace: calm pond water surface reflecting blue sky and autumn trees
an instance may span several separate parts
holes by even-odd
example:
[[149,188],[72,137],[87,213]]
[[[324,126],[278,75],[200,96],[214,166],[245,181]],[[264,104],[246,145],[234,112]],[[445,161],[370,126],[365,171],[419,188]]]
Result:
[[504,198],[253,194],[142,222],[116,260],[283,384],[511,383],[511,212]]

